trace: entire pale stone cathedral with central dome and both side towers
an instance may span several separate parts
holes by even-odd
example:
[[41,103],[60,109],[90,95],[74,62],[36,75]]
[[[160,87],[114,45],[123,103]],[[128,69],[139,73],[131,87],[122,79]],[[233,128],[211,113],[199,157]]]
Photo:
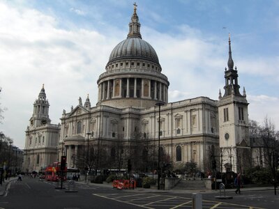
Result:
[[195,162],[206,171],[214,162],[220,171],[241,170],[241,156],[249,149],[248,102],[245,89],[239,91],[230,38],[225,93],[219,91],[219,100],[168,102],[169,81],[140,26],[135,6],[127,38],[112,49],[98,77],[96,106],[87,95],[84,103],[80,98],[76,107],[63,110],[61,125],[51,125],[42,88],[26,131],[25,170],[38,171],[66,155],[67,167],[100,169],[110,162],[106,169],[126,169],[127,164],[135,169],[144,158],[153,162],[146,171],[154,171],[158,153],[160,163],[174,167]]

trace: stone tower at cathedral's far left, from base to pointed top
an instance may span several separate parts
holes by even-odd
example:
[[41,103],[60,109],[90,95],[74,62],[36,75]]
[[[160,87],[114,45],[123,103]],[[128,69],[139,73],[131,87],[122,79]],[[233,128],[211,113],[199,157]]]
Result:
[[33,103],[33,114],[26,130],[24,172],[38,172],[57,161],[60,124],[50,123],[49,107],[43,85],[38,99]]

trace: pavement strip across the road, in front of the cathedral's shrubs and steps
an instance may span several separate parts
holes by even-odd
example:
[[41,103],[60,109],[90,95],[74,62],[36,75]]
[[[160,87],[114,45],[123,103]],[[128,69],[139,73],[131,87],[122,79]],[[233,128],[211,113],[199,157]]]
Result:
[[[96,186],[96,187],[107,187],[107,188],[111,188],[112,187],[112,183],[106,183],[104,182],[103,184],[96,184],[96,183],[85,183],[84,181],[78,181],[76,182],[77,184],[81,184],[81,185],[91,185],[91,186]],[[250,191],[264,191],[264,190],[273,190],[274,187],[247,187],[247,188],[241,188],[241,192],[250,192]],[[225,192],[226,193],[234,193],[236,189],[226,189]],[[277,190],[279,191],[279,189],[277,188]],[[192,194],[192,193],[203,193],[203,194],[219,194],[220,191],[219,189],[215,190],[215,189],[170,189],[170,190],[158,190],[155,188],[151,188],[151,189],[144,189],[142,187],[136,187],[135,189],[123,189],[123,191],[125,192],[153,192],[153,193],[177,193],[177,194]],[[222,191],[223,192],[223,191]]]

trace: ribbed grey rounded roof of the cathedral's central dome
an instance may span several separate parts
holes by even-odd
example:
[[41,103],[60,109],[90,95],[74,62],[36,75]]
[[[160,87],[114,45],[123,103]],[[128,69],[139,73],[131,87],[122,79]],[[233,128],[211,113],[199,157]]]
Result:
[[127,38],[119,42],[110,54],[109,63],[117,59],[145,59],[159,64],[158,56],[153,47],[139,37]]

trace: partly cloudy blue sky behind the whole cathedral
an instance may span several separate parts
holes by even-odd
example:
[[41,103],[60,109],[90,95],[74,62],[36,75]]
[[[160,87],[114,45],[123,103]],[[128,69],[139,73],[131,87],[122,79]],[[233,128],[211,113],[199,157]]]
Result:
[[[45,84],[52,123],[98,97],[98,76],[126,39],[134,1],[0,0],[0,131],[24,148]],[[249,118],[279,129],[279,1],[138,0],[142,38],[169,79],[169,102],[224,93],[228,34]]]

